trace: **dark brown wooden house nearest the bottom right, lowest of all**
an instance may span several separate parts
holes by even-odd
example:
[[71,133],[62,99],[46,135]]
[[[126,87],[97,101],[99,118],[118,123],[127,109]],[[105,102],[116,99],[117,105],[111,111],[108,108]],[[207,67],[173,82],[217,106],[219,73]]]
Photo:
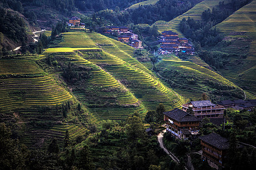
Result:
[[210,167],[222,169],[226,162],[229,140],[216,133],[199,137],[203,150],[203,159]]

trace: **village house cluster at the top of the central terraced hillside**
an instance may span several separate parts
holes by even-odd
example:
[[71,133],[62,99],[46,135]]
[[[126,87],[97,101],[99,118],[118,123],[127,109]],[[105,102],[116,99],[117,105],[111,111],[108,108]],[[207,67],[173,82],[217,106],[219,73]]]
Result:
[[108,26],[105,27],[104,33],[114,34],[117,33],[118,41],[129,43],[133,48],[143,49],[142,41],[138,40],[138,35],[133,33],[127,27],[115,27],[115,26]]

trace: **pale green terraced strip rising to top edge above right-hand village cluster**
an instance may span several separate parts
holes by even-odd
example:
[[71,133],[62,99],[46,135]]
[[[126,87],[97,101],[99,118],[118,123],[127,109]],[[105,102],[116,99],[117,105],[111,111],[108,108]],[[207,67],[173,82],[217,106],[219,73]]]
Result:
[[[224,2],[229,2],[230,0],[225,0]],[[183,34],[179,31],[179,24],[180,21],[183,18],[193,18],[195,20],[201,20],[201,14],[204,12],[204,10],[212,10],[214,6],[217,6],[219,2],[222,2],[221,0],[205,0],[200,3],[198,3],[196,6],[185,12],[184,14],[177,16],[176,18],[170,20],[170,22],[164,22],[163,20],[160,20],[158,22],[155,22],[154,24],[158,25],[159,31],[174,31],[176,33],[179,33],[179,36],[183,36]]]

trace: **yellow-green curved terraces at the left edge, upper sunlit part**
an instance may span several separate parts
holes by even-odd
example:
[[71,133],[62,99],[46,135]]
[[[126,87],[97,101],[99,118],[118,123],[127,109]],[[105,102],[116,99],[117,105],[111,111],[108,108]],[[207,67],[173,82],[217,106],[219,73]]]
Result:
[[34,58],[0,59],[1,111],[15,111],[31,105],[56,105],[72,99],[51,75],[39,68]]

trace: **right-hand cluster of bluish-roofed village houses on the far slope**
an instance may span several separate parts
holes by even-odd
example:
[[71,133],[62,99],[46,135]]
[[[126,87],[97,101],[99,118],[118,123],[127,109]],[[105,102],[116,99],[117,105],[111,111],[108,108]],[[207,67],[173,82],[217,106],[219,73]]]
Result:
[[183,52],[185,54],[194,54],[195,49],[192,45],[188,44],[188,39],[179,38],[178,34],[172,31],[164,31],[160,35],[160,53],[161,54],[170,54]]

